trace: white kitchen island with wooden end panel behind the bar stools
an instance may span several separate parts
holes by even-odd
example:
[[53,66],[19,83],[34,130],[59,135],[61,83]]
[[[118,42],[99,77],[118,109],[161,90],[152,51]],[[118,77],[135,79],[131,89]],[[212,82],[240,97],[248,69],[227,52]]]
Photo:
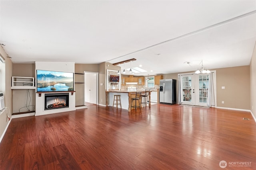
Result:
[[[141,94],[143,95],[145,93],[145,90],[137,90],[136,92],[142,92]],[[120,95],[121,96],[122,109],[127,109],[128,111],[131,111],[132,98],[135,97],[136,92],[131,92],[131,91],[128,91],[128,90],[106,91],[106,106],[113,106],[114,95]],[[149,107],[151,107],[150,94],[151,94],[151,91],[149,92],[149,96],[148,96],[148,99],[149,99],[148,106]],[[108,97],[109,97],[109,102],[108,102]],[[141,103],[141,101],[140,101],[140,103]]]

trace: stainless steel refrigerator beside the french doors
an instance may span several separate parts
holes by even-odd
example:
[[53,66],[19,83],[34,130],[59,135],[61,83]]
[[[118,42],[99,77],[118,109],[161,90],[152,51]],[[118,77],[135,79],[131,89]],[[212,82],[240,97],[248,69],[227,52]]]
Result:
[[176,80],[160,80],[159,102],[160,104],[176,104]]

